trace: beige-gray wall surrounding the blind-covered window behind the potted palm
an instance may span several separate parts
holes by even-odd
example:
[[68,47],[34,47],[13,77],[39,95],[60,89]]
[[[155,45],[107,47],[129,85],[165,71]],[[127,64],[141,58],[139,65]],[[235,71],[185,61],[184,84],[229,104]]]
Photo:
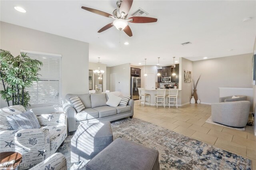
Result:
[[[89,43],[0,22],[1,49],[12,55],[20,50],[62,55],[62,99],[67,93],[88,93]],[[0,87],[2,89],[2,87]],[[1,101],[0,108],[7,103]]]

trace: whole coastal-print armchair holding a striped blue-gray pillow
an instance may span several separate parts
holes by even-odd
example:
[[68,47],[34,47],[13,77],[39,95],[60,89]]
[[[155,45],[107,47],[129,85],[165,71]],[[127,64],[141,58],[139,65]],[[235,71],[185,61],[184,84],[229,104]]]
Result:
[[24,166],[20,169],[32,168],[54,154],[67,136],[64,113],[37,115],[41,128],[13,130],[6,116],[24,112],[21,105],[0,109],[0,152],[21,153]]

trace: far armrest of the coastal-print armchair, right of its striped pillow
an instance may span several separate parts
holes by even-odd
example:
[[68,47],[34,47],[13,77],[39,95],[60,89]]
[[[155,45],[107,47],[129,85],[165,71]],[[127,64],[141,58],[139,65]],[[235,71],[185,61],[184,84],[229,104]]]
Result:
[[36,115],[38,122],[41,126],[57,126],[66,125],[66,114],[65,113],[51,113]]

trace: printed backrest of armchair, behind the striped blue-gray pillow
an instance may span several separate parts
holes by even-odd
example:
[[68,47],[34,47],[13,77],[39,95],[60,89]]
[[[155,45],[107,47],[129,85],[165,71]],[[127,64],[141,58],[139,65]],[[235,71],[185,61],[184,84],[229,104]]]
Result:
[[26,112],[26,109],[22,105],[14,105],[0,109],[0,130],[13,130],[6,116],[18,115],[24,112]]

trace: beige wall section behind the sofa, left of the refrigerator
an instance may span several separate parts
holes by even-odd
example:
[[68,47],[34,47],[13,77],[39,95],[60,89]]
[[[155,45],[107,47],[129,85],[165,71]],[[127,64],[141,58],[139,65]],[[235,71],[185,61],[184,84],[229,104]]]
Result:
[[110,67],[112,73],[116,73],[116,91],[130,95],[130,63]]

